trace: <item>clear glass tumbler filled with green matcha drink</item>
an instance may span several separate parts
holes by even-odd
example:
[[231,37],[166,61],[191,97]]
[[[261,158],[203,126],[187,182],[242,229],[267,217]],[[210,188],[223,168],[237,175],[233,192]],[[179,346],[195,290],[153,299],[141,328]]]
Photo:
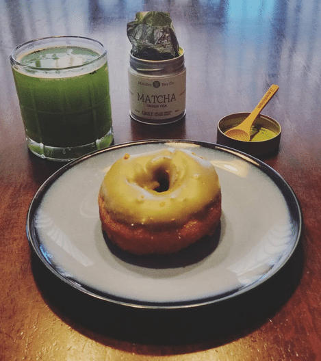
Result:
[[70,160],[109,146],[112,114],[103,46],[78,37],[35,42],[40,44],[31,51],[18,47],[10,57],[30,150]]

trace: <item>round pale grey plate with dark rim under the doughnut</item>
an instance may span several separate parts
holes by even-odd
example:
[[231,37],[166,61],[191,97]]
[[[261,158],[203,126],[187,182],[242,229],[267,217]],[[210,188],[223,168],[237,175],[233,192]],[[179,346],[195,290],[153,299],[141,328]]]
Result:
[[[101,231],[99,187],[126,152],[164,147],[193,150],[214,164],[220,228],[174,256],[131,256]],[[301,228],[294,192],[268,165],[224,146],[173,140],[112,146],[65,165],[40,187],[27,217],[31,248],[55,276],[106,302],[143,308],[208,304],[253,289],[290,258]]]

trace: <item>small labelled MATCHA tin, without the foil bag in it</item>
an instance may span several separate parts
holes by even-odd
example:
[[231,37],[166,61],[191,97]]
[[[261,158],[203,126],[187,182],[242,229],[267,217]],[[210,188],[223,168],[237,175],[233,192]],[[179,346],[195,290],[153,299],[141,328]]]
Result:
[[130,116],[138,122],[168,124],[185,116],[184,51],[167,60],[145,60],[130,54]]

